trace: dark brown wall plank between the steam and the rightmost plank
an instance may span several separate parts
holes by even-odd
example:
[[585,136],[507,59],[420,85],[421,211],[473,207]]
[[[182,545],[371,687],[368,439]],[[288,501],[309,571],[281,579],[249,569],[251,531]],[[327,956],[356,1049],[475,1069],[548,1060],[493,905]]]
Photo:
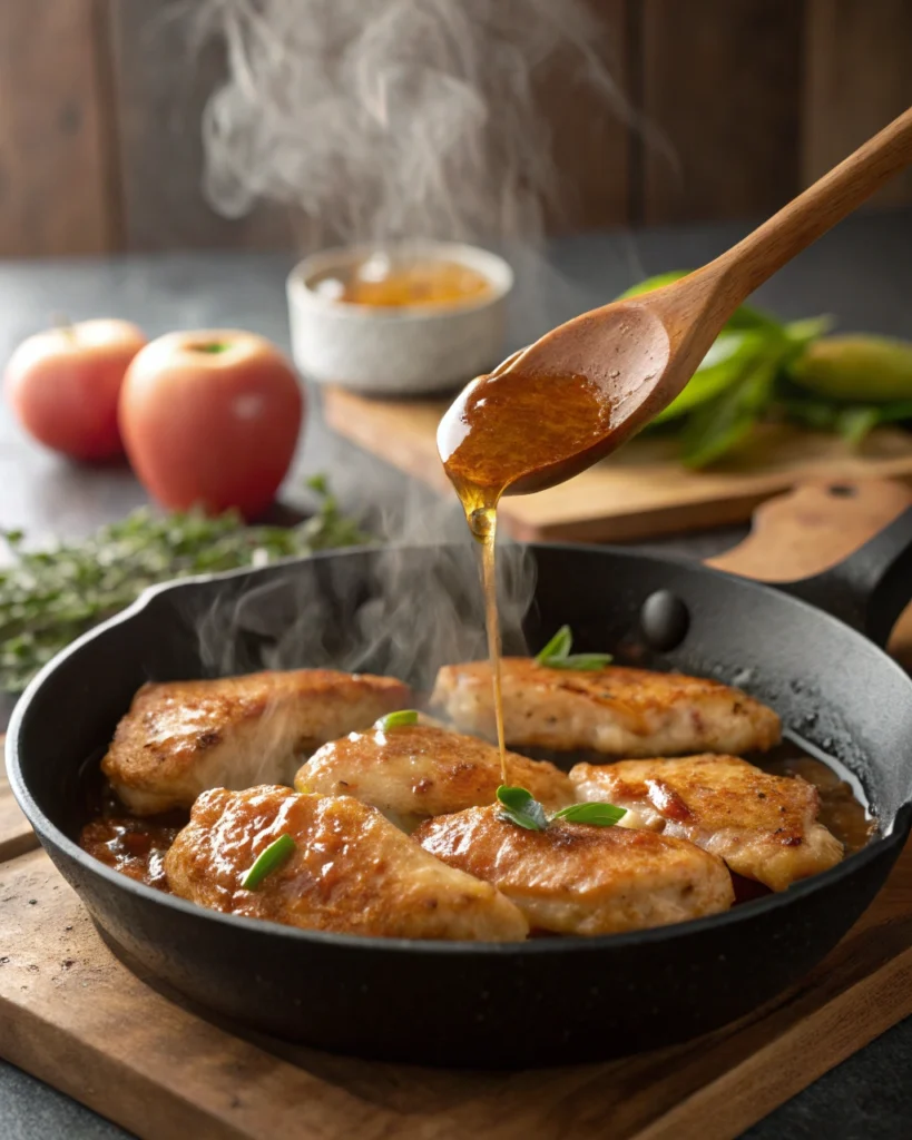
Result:
[[648,140],[640,148],[642,220],[777,209],[798,188],[801,5],[643,0],[642,8],[642,105],[671,148]]

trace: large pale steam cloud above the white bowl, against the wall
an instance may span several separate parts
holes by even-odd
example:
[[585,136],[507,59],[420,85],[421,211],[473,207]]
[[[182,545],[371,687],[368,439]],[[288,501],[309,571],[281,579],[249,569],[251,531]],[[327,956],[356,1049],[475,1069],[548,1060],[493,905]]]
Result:
[[560,65],[629,117],[583,0],[199,0],[227,49],[205,189],[299,207],[324,238],[536,238],[559,186],[537,81]]

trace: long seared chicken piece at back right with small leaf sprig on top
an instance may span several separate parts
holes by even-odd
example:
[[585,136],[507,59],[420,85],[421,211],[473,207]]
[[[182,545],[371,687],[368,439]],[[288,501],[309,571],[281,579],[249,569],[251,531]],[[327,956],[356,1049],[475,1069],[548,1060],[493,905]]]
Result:
[[[717,681],[679,673],[606,666],[551,669],[532,658],[503,661],[507,744],[560,751],[594,749],[611,756],[747,752],[779,742],[779,717]],[[487,661],[447,665],[432,705],[461,732],[494,732]]]

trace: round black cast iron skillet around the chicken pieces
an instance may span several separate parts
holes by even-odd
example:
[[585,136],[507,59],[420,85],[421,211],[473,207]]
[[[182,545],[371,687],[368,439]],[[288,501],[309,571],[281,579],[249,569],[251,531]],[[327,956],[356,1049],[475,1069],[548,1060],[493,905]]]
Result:
[[[249,1026],[457,1066],[592,1060],[681,1041],[752,1010],[820,961],[869,905],[912,823],[912,681],[879,648],[912,595],[912,511],[836,570],[783,588],[624,549],[529,549],[538,571],[530,645],[569,622],[580,650],[740,683],[861,779],[879,837],[726,914],[521,945],[342,937],[228,917],[83,854],[73,840],[80,771],[142,682],[255,668],[302,606],[323,622],[324,660],[349,661],[364,637],[358,606],[389,580],[384,560],[406,559],[427,584],[440,576],[430,548],[337,552],[154,589],[28,687],[7,738],[13,789],[97,923],[154,975]],[[203,618],[205,656],[195,632]],[[213,629],[222,637],[214,654]],[[389,644],[375,641],[364,668],[382,671]],[[323,662],[292,653],[280,663]]]

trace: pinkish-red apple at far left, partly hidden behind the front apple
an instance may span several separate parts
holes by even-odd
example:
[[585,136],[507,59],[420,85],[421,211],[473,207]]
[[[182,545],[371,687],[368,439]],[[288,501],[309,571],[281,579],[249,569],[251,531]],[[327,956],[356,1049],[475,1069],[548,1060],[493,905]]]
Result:
[[123,453],[117,397],[127,366],[146,343],[127,320],[83,320],[36,333],[6,368],[7,399],[36,440],[74,459]]

